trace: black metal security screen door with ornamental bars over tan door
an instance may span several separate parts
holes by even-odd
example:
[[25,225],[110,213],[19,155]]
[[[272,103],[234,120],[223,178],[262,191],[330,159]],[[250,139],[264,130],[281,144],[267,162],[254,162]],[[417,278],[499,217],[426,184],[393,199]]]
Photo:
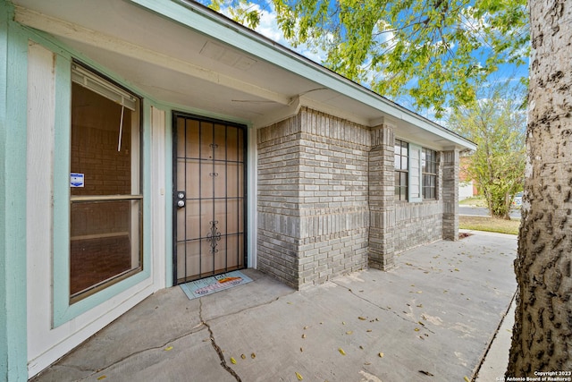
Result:
[[244,126],[173,115],[177,284],[245,267]]

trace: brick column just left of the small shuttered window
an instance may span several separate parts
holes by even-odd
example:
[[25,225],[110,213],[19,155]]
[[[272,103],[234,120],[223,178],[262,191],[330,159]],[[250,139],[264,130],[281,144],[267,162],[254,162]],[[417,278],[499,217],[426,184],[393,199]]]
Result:
[[394,266],[394,142],[393,127],[383,124],[372,131],[369,152],[369,267]]

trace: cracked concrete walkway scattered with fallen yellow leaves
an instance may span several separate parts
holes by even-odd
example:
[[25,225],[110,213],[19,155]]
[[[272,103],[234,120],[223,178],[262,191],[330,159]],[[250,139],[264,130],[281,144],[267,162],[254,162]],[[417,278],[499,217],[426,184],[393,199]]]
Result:
[[471,380],[515,293],[516,250],[516,236],[474,232],[300,292],[256,270],[196,300],[173,287],[34,380]]

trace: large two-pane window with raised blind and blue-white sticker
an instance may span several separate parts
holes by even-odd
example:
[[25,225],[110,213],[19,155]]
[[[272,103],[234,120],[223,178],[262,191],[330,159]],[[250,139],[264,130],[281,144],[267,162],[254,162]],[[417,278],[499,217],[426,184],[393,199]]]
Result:
[[139,98],[80,66],[71,72],[70,300],[142,267]]

